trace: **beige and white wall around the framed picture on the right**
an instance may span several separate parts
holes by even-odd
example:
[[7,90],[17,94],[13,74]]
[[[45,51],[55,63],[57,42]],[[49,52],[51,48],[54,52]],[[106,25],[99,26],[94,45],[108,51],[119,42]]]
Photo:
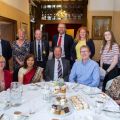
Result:
[[[120,44],[120,1],[119,0],[89,0],[88,14],[87,14],[87,27],[92,36],[92,16],[112,16],[112,31],[115,34],[117,42]],[[96,53],[95,60],[100,59],[100,48],[102,40],[94,40]]]

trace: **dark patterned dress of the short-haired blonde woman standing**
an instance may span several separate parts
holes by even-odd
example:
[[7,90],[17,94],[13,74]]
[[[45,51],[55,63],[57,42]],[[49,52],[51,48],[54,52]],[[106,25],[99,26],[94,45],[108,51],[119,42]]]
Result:
[[16,61],[15,58],[19,59],[20,62],[24,61],[24,58],[26,55],[29,54],[30,51],[30,44],[28,41],[24,41],[23,45],[21,47],[18,46],[16,41],[13,42],[12,44],[12,54],[13,54],[13,66],[14,69],[17,69],[20,67],[18,62]]

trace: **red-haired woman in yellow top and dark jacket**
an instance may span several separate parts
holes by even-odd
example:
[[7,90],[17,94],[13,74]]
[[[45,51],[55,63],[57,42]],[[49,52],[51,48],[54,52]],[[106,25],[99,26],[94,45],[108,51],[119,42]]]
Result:
[[86,27],[80,27],[77,31],[75,42],[72,48],[72,59],[73,61],[81,60],[80,48],[83,45],[87,45],[90,48],[90,58],[95,54],[95,46],[92,39],[88,39],[88,31]]

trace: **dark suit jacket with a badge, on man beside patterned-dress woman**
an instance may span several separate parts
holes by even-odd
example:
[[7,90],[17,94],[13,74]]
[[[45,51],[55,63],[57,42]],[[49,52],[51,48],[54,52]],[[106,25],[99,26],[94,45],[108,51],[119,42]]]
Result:
[[[37,60],[36,40],[30,43],[30,53],[35,55]],[[49,43],[46,40],[42,40],[42,58],[44,62],[47,62],[49,55]]]

